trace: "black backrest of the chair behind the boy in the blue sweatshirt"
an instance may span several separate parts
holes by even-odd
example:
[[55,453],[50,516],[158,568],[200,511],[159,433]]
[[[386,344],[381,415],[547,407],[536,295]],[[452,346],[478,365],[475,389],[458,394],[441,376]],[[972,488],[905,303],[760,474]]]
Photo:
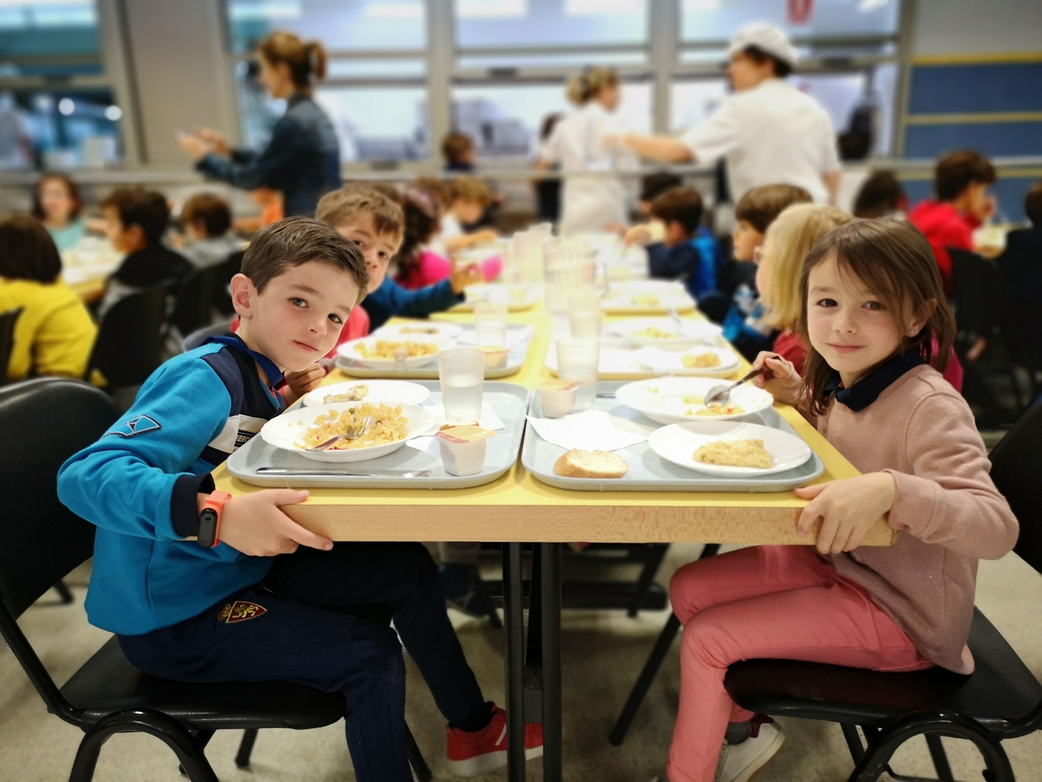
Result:
[[0,389],[0,601],[19,616],[91,557],[94,526],[58,500],[58,467],[119,415],[102,391],[40,377]]

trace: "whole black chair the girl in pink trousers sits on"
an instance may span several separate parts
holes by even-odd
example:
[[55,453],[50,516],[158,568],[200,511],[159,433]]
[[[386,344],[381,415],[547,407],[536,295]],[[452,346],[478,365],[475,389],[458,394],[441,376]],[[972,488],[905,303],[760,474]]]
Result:
[[[1042,571],[1040,437],[1042,407],[1036,406],[995,446],[991,474],[1020,521],[1017,554]],[[1042,728],[1042,685],[981,611],[973,614],[969,647],[976,668],[968,677],[941,668],[882,674],[792,660],[746,660],[728,668],[724,685],[736,703],[751,711],[839,723],[855,763],[850,782],[877,779],[889,771],[897,748],[918,735],[925,736],[941,782],[953,782],[941,736],[972,741],[984,756],[985,779],[1012,782],[1000,742]]]

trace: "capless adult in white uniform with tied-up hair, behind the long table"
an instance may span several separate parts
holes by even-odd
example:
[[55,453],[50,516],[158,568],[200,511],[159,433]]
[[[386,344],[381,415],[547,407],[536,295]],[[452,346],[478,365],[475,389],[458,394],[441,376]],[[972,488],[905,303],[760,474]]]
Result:
[[[566,171],[610,171],[631,154],[609,140],[622,133],[615,112],[622,98],[619,75],[593,68],[568,82],[568,99],[576,108],[553,127],[540,151],[538,167],[560,165]],[[561,195],[562,235],[625,225],[625,189],[612,176],[570,176]]]

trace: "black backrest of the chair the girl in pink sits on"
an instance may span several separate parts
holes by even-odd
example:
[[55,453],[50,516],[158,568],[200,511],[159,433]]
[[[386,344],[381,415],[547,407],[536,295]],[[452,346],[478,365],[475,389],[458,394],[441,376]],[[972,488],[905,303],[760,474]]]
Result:
[[1042,507],[1038,500],[1042,475],[1042,405],[1024,413],[991,451],[991,478],[1020,522],[1014,551],[1042,572]]

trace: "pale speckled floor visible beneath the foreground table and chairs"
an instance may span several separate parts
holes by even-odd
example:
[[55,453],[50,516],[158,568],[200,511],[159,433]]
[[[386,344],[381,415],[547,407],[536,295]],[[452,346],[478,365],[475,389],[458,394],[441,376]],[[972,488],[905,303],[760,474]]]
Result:
[[[698,546],[675,545],[660,580],[697,556]],[[22,624],[55,679],[64,681],[100,645],[106,634],[84,618],[85,577],[74,580],[73,606],[39,605]],[[78,581],[78,584],[76,583]],[[1016,556],[982,562],[977,605],[1006,635],[1027,665],[1042,676],[1042,577]],[[665,612],[637,619],[620,613],[566,612],[564,617],[565,778],[577,782],[646,782],[665,764],[676,709],[678,667],[675,650],[620,748],[607,732],[666,620]],[[457,617],[458,618],[458,617]],[[458,632],[486,694],[503,701],[502,634],[485,622],[461,619]],[[408,723],[438,779],[449,779],[444,761],[443,724],[433,702],[410,666]],[[838,727],[782,720],[788,742],[756,782],[839,782],[852,768]],[[42,702],[9,652],[0,653],[0,780],[56,782],[68,779],[80,733],[46,713]],[[207,756],[222,782],[341,782],[351,780],[343,725],[318,731],[263,731],[248,772],[232,758],[239,734],[218,734]],[[981,779],[982,765],[965,742],[945,739],[959,779]],[[1018,779],[1042,779],[1042,733],[1006,743]],[[895,763],[903,774],[929,776],[921,741],[902,748]],[[482,779],[505,780],[503,772]],[[541,779],[538,763],[529,778]],[[173,754],[156,739],[121,735],[104,748],[98,782],[178,782]]]

